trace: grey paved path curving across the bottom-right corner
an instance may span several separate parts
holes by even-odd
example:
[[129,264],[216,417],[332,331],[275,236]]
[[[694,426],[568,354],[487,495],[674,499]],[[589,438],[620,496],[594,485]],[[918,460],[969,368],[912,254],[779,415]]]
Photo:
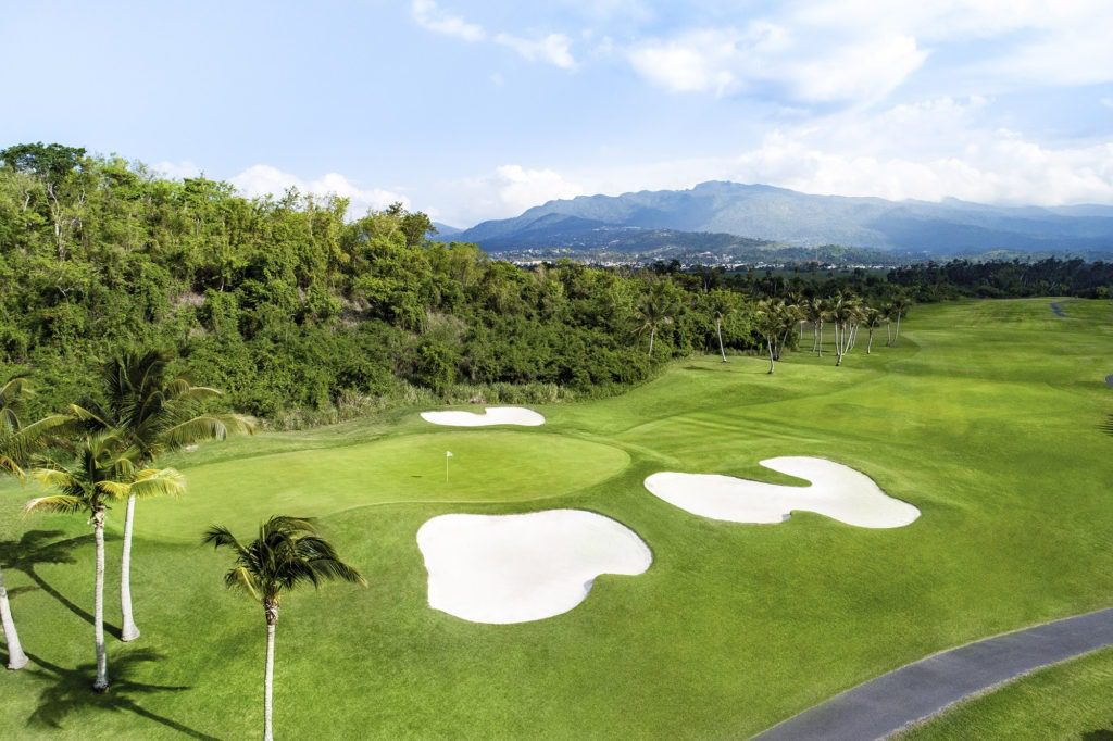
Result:
[[953,702],[1047,664],[1113,645],[1113,609],[937,653],[772,727],[761,741],[873,741]]

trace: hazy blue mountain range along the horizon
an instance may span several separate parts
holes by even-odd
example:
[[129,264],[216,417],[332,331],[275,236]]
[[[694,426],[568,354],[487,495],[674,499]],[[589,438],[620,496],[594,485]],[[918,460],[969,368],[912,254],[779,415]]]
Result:
[[483,221],[444,240],[490,253],[726,254],[841,245],[900,255],[1113,254],[1113,206],[1004,207],[814,196],[785,188],[702,182],[690,190],[552,200]]

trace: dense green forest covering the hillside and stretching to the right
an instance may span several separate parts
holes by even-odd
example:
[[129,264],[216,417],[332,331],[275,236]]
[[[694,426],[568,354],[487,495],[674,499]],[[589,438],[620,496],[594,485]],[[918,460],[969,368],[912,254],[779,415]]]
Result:
[[[248,199],[60,145],[0,151],[0,365],[36,412],[81,398],[100,362],[160,347],[225,403],[297,426],[392,399],[541,402],[610,393],[692,352],[761,352],[819,296],[1107,296],[1113,266],[952,261],[884,274],[519,268],[431,241],[421,213],[348,213],[290,190]],[[795,303],[795,304],[794,304]],[[721,346],[720,346],[721,340]],[[788,338],[789,344],[792,340]],[[779,348],[778,348],[779,349]]]

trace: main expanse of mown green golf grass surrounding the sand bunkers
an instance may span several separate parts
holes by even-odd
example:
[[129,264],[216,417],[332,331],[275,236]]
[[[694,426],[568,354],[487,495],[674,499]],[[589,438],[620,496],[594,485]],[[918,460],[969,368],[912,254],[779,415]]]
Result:
[[[917,306],[897,347],[861,344],[841,368],[834,353],[792,353],[772,376],[761,358],[680,362],[620,397],[538,407],[540,428],[447,431],[415,409],[175,456],[190,492],[140,504],[144,635],[111,642],[105,696],[81,684],[88,530],[19,516],[30,493],[3,484],[0,555],[35,663],[0,675],[0,737],[257,733],[262,610],[224,591],[227,554],[195,543],[214,521],[247,536],[272,513],[322,517],[371,583],[284,603],[287,737],[738,738],[925,654],[1110,606],[1113,305],[1061,304],[1065,317],[1046,299]],[[889,531],[809,513],[747,526],[641,485],[662,470],[787,483],[758,465],[777,455],[850,465],[923,515]],[[624,523],[653,565],[534,623],[427,607],[423,522],[555,506]],[[118,553],[111,540],[110,585]],[[110,597],[112,624],[116,610]]]

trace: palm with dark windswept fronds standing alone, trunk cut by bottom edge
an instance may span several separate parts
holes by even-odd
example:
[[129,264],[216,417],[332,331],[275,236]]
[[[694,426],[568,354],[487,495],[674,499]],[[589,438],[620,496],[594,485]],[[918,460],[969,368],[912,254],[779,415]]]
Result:
[[276,515],[259,526],[259,535],[243,545],[226,527],[214,525],[203,543],[229,547],[236,565],[224,577],[228,589],[247,592],[263,605],[267,623],[267,658],[263,680],[263,738],[274,739],[275,626],[282,595],[301,584],[319,586],[328,580],[343,580],[366,586],[367,582],[336,555],[333,546],[317,535],[313,521]]

